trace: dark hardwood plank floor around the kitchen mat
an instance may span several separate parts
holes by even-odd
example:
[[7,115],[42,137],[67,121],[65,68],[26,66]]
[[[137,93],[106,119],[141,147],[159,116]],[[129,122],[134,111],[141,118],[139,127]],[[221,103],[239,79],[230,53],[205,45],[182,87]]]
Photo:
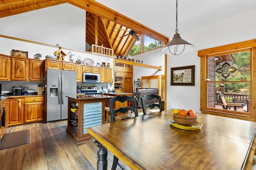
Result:
[[[0,170],[96,170],[98,146],[92,140],[78,146],[66,127],[67,121],[8,127],[6,133],[29,129],[30,143],[0,150]],[[108,152],[108,169],[112,160]]]

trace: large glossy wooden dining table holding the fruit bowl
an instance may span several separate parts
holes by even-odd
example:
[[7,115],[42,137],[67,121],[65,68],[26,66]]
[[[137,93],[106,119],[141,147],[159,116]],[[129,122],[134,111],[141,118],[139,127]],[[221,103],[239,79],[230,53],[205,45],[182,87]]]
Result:
[[107,150],[130,169],[250,169],[256,123],[197,115],[198,130],[172,126],[172,109],[87,128],[99,144],[97,169],[107,169]]

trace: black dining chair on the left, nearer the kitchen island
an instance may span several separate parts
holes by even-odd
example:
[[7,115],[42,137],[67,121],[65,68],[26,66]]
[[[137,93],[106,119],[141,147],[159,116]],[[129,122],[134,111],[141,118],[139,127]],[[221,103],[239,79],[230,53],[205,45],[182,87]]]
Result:
[[[113,106],[116,101],[124,103],[124,102],[126,102],[128,100],[132,101],[134,103],[134,107],[127,106],[127,107],[114,108],[114,106]],[[127,114],[128,111],[131,111],[131,113],[134,112],[134,116],[135,117],[138,117],[138,106],[137,106],[137,99],[136,99],[136,97],[126,96],[126,95],[124,95],[124,96],[116,96],[116,97],[114,97],[112,99],[109,99],[109,108],[110,108],[111,122],[115,122],[116,121],[117,113]],[[130,117],[126,117],[126,118],[130,118]],[[124,119],[126,119],[126,118],[124,118]],[[122,119],[120,119],[120,120],[122,120]],[[120,166],[120,168],[122,170],[125,170],[125,168],[118,163],[118,158],[114,155],[113,164],[112,164],[111,170],[115,170],[117,165]]]

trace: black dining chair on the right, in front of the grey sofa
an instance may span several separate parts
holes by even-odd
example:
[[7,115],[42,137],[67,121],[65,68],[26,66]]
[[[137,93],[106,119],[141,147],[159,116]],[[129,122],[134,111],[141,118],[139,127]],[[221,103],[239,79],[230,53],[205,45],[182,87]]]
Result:
[[[158,95],[154,94],[146,94],[142,97],[140,97],[141,103],[142,103],[142,111],[143,115],[146,115],[147,112],[146,110],[149,109],[154,109],[155,107],[159,108],[159,111],[162,111],[162,102],[161,102],[161,97]],[[155,103],[158,100],[158,104]],[[156,111],[150,111],[150,113],[154,113]]]

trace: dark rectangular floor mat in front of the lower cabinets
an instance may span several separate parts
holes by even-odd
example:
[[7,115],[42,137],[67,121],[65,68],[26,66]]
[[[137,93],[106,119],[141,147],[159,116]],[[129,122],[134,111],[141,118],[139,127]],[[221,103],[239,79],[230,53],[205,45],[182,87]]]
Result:
[[4,134],[0,140],[0,150],[29,143],[29,129]]

